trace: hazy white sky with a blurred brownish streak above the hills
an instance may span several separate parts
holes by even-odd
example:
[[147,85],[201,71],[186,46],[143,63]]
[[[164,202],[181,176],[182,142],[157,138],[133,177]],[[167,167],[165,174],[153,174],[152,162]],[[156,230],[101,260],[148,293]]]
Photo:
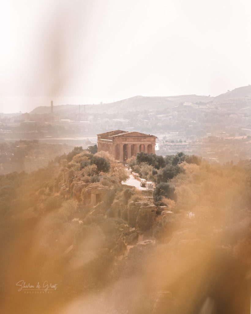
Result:
[[0,112],[251,84],[250,0],[2,1]]

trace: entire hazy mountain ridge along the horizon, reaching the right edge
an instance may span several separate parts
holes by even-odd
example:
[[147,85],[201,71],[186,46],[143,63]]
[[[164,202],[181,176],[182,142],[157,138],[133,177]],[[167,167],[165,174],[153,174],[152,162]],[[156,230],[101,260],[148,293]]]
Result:
[[[165,108],[171,108],[177,106],[180,103],[204,103],[205,105],[212,103],[219,103],[227,99],[232,98],[245,98],[251,97],[251,86],[243,86],[232,91],[228,91],[224,94],[216,97],[203,96],[203,95],[176,95],[176,96],[134,96],[131,98],[115,101],[108,104],[100,105],[85,105],[86,112],[106,112],[116,113],[125,111],[142,111],[142,110],[161,110]],[[59,115],[71,115],[77,114],[79,111],[78,105],[60,105],[54,106],[53,111]],[[81,105],[81,112],[83,111],[83,105]],[[31,114],[44,114],[50,113],[50,106],[39,106],[30,112]]]

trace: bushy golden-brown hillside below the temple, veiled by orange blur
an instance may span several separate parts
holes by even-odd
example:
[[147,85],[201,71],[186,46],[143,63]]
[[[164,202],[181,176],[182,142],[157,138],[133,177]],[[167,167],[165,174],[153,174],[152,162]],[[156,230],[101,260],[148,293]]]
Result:
[[[0,176],[3,313],[22,308],[20,279],[58,284],[46,302],[27,296],[28,313],[197,313],[208,302],[215,313],[248,309],[250,161],[139,154],[133,167],[150,169],[156,190],[169,186],[175,197],[157,191],[156,207],[151,191],[120,184],[122,164],[80,147],[38,171]],[[105,191],[95,206],[86,198],[94,187]],[[150,235],[146,217],[155,217],[153,233],[137,244],[142,230]]]

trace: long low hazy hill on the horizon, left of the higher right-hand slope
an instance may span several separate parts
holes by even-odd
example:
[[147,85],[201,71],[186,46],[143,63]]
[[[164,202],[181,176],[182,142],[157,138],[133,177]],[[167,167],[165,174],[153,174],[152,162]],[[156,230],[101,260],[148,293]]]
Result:
[[[109,104],[102,104],[102,105],[86,105],[86,112],[94,113],[94,112],[123,112],[123,111],[142,111],[142,110],[158,110],[158,109],[165,109],[170,108],[173,106],[177,106],[182,102],[189,102],[189,103],[197,103],[203,102],[207,103],[212,101],[213,97],[208,96],[197,96],[197,95],[178,95],[178,96],[153,96],[153,97],[146,97],[146,96],[134,96],[131,98],[119,100]],[[58,114],[67,115],[67,114],[74,114],[78,113],[78,105],[61,105],[61,106],[54,106],[54,112]],[[81,106],[81,110],[83,110],[83,106]],[[32,110],[30,113],[32,114],[42,114],[42,113],[49,113],[50,106],[41,106],[37,107]]]

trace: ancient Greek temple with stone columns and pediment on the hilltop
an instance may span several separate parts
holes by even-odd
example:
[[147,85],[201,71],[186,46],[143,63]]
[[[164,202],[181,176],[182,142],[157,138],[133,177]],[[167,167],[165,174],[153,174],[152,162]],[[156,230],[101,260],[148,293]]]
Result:
[[114,130],[97,134],[98,152],[110,153],[115,160],[126,162],[139,152],[155,154],[156,136],[140,132]]

